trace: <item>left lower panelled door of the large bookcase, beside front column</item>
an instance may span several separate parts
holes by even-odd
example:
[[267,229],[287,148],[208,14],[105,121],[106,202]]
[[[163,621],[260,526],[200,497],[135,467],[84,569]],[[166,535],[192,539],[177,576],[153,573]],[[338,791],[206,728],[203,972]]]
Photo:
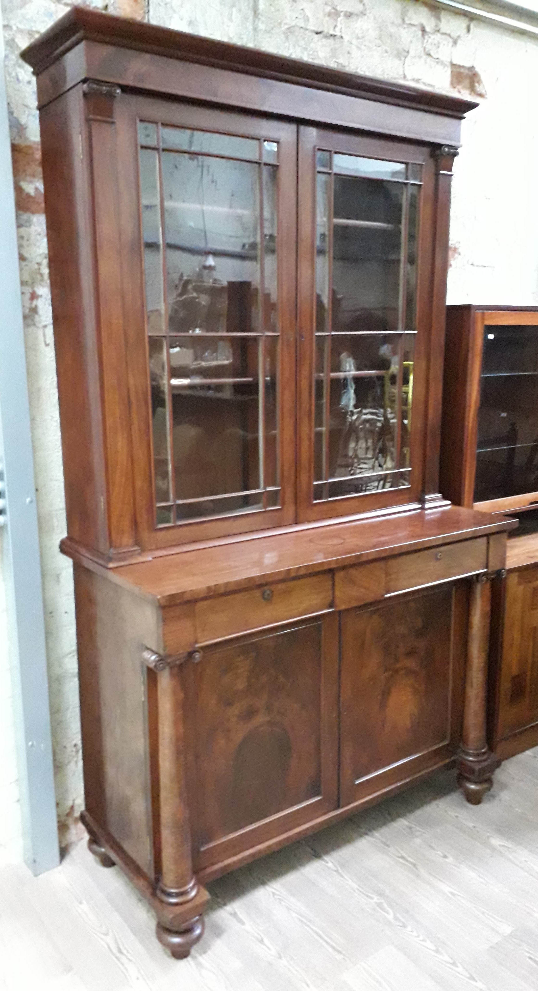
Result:
[[337,805],[337,617],[217,643],[187,665],[195,869]]

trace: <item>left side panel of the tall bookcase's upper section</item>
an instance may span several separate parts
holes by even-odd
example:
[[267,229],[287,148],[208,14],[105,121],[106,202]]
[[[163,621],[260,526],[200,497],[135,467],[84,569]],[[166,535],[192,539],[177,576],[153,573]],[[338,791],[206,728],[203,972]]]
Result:
[[62,424],[67,532],[107,550],[105,472],[95,341],[81,94],[41,112],[45,209]]

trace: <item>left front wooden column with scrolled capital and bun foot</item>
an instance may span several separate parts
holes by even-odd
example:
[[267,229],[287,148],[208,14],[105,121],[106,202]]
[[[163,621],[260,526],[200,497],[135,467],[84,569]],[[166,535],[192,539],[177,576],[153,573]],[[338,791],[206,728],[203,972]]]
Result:
[[185,775],[183,688],[180,667],[197,653],[175,657],[145,649],[143,658],[157,672],[161,876],[157,898],[157,937],[177,958],[189,955],[203,934],[206,891],[193,873],[191,826]]

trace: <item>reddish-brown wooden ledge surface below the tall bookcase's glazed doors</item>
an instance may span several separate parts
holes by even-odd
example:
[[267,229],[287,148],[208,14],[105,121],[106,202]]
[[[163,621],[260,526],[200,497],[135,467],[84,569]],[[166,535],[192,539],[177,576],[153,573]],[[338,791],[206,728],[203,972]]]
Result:
[[[161,606],[284,581],[334,567],[513,529],[516,520],[460,506],[416,509],[376,519],[331,521],[304,529],[249,534],[106,569],[84,564]],[[78,559],[80,560],[80,559]]]

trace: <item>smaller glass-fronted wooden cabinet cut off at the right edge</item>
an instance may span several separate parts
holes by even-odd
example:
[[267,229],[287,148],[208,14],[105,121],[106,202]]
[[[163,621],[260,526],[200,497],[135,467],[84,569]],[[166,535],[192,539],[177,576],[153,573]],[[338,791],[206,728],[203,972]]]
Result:
[[492,584],[488,738],[538,743],[538,307],[449,306],[442,491],[519,526]]

